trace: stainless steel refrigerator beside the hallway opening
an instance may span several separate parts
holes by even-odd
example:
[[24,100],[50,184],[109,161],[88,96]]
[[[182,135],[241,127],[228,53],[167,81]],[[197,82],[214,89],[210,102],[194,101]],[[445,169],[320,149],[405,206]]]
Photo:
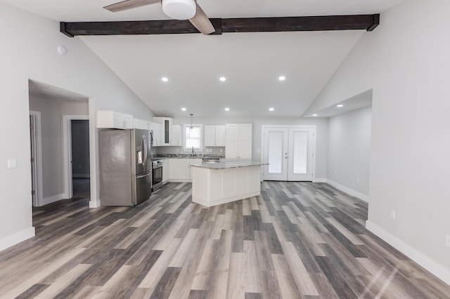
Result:
[[152,189],[150,131],[98,131],[102,206],[136,206]]

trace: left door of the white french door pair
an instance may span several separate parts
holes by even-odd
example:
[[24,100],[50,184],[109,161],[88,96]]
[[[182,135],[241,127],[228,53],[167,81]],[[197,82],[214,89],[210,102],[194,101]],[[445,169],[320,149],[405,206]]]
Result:
[[264,128],[264,180],[288,180],[288,128]]

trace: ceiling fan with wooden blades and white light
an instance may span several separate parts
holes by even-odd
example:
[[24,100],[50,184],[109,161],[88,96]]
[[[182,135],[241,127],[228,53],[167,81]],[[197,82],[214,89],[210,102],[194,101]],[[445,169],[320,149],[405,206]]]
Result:
[[115,13],[157,3],[162,4],[162,11],[168,17],[176,20],[189,20],[203,34],[210,34],[216,31],[210,19],[198,5],[197,0],[125,0],[103,8]]

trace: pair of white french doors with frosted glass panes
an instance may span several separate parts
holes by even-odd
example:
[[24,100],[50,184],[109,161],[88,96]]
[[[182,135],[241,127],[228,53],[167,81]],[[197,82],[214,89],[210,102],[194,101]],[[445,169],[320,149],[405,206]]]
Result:
[[263,179],[311,181],[314,178],[314,127],[264,127]]

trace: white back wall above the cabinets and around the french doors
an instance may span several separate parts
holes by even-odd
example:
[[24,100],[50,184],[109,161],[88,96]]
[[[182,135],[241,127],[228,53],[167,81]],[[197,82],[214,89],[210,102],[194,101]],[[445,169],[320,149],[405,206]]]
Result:
[[[174,119],[175,124],[191,124],[189,118]],[[251,123],[253,124],[252,159],[261,160],[262,151],[262,125],[272,126],[316,126],[316,179],[326,179],[326,164],[328,150],[328,119],[323,118],[227,118],[227,119],[207,119],[195,118],[195,124],[233,124]],[[166,151],[164,151],[166,152]]]

